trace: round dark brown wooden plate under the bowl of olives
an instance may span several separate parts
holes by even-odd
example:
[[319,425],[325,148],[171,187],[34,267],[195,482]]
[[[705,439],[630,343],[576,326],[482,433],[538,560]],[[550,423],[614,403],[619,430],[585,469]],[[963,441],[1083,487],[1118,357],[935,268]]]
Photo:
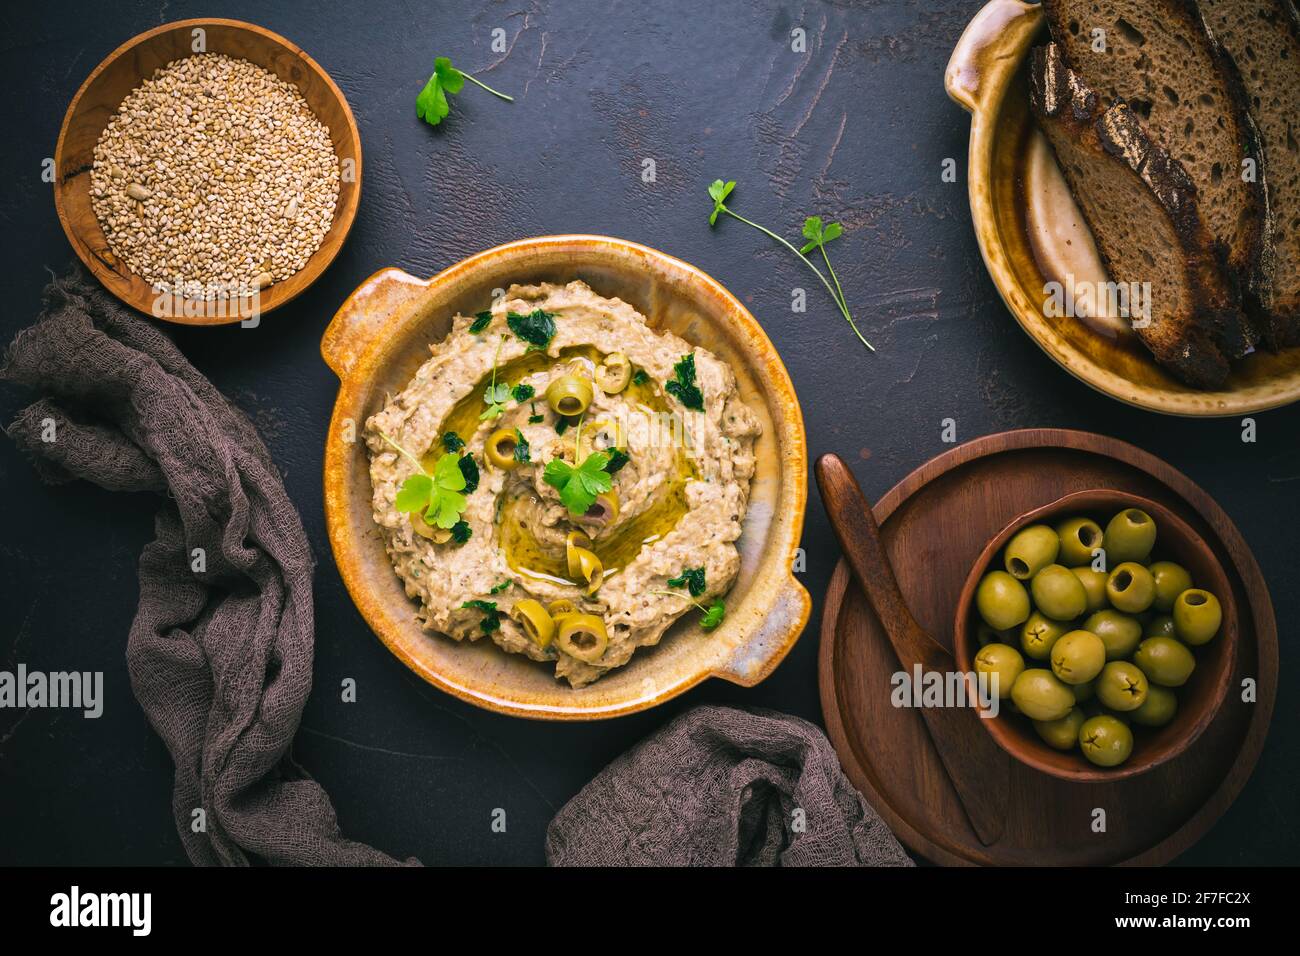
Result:
[[[1278,631],[1254,557],[1223,510],[1182,472],[1114,438],[1063,429],[1002,432],[905,477],[875,506],[913,615],[952,648],[971,563],[1017,515],[1070,492],[1115,488],[1161,502],[1214,550],[1239,615],[1236,667],[1218,717],[1184,754],[1141,777],[1071,783],[1010,769],[1006,831],[984,847],[915,710],[890,705],[893,648],[842,561],[822,617],[827,731],[849,779],[913,852],[949,865],[1157,865],[1196,843],[1231,805],[1264,747],[1277,695]],[[1242,682],[1256,680],[1256,702]],[[1095,830],[1104,810],[1105,831]]]

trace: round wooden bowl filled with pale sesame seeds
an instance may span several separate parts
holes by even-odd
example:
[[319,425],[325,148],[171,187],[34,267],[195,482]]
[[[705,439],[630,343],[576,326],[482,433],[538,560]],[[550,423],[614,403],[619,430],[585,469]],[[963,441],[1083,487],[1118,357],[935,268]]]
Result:
[[251,324],[307,289],[360,194],[342,91],[283,36],[235,20],[165,23],[114,49],[55,148],[73,250],[126,304],[187,325]]

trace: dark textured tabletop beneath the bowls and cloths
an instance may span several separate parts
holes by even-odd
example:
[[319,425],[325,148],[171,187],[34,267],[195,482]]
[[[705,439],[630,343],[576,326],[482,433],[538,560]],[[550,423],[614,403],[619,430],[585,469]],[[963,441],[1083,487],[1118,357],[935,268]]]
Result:
[[[329,788],[346,832],[426,862],[538,864],[552,813],[607,761],[703,701],[754,704],[820,721],[816,622],[837,550],[809,506],[812,626],[764,684],[708,682],[658,710],[585,726],[497,717],[412,676],[370,635],[330,561],[321,454],[335,380],[318,356],[334,310],[382,265],[432,274],[463,256],[543,233],[607,233],[686,259],[763,323],[802,397],[814,454],[852,460],[872,497],[959,440],[1026,425],[1114,434],[1184,470],[1223,505],[1273,588],[1288,658],[1300,618],[1300,407],[1235,421],[1186,421],[1121,406],[1078,384],[1019,330],[980,263],[965,186],[967,117],[942,70],[979,0],[866,3],[68,3],[9,9],[0,39],[0,225],[6,303],[0,338],[36,315],[47,269],[70,260],[42,160],[64,111],[114,47],[157,23],[250,20],[302,46],[356,113],[365,152],[360,215],[316,285],[260,329],[178,330],[200,371],[257,423],[316,550],[316,687],[295,747]],[[490,31],[510,36],[504,56]],[[803,26],[809,52],[789,48]],[[436,55],[502,90],[467,86],[439,129],[413,100]],[[940,181],[957,157],[956,185]],[[654,157],[658,182],[644,185]],[[732,206],[796,234],[820,212],[845,222],[837,269],[866,355],[796,261],[737,222],[710,230],[715,177]],[[792,315],[792,286],[812,311]],[[5,420],[22,395],[0,394]],[[155,501],[77,485],[47,489],[0,442],[0,669],[103,670],[99,721],[0,711],[0,862],[185,862],[170,813],[172,766],[134,704],[124,648],[135,564]],[[338,702],[356,678],[358,704]],[[1296,671],[1236,804],[1182,857],[1296,862],[1300,726]],[[508,832],[493,834],[493,808]],[[1290,810],[1287,809],[1290,808]],[[1046,809],[1046,808],[1045,808]]]

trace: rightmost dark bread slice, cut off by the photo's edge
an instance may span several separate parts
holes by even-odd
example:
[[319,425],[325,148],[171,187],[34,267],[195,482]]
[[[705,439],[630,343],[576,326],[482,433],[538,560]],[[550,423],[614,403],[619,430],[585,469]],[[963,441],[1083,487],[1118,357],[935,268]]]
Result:
[[1300,13],[1291,0],[1200,0],[1242,74],[1260,130],[1273,284],[1252,304],[1273,349],[1300,345]]

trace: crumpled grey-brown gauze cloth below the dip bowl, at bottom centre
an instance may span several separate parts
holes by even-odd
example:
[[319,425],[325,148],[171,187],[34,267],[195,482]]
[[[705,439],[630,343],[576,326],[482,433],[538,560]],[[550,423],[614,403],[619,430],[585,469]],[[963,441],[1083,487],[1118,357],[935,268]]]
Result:
[[702,706],[615,760],[551,821],[552,866],[911,866],[807,721]]

